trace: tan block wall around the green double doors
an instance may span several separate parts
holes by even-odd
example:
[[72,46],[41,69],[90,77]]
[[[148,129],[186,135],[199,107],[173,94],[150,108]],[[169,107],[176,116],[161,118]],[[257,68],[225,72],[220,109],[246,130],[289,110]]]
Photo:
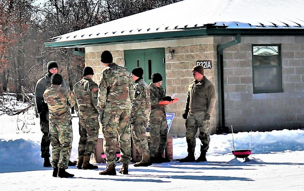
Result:
[[[205,75],[216,86],[217,90],[217,57],[216,46],[213,45],[213,37],[195,38],[195,39],[176,39],[144,43],[128,43],[104,46],[90,46],[85,48],[85,66],[91,66],[94,69],[94,81],[99,82],[100,72],[104,68],[100,62],[102,51],[111,51],[114,62],[124,66],[124,50],[130,49],[149,49],[165,48],[166,62],[166,86],[167,95],[177,93],[174,98],[179,101],[167,106],[167,112],[174,112],[175,117],[171,126],[170,136],[185,136],[185,120],[182,118],[185,109],[185,100],[188,85],[193,80],[192,67],[197,60],[212,60],[212,69],[206,69]],[[169,59],[169,48],[174,49],[173,59]],[[209,132],[216,133],[218,125],[218,104],[211,116]]]

